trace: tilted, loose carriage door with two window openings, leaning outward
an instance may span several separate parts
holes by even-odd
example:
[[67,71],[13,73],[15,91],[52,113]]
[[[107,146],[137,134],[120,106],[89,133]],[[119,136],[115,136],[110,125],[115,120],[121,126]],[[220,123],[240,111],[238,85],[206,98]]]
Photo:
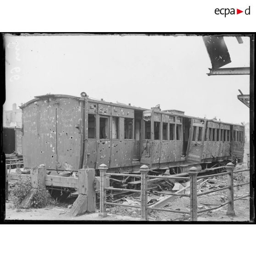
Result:
[[206,121],[192,118],[189,132],[187,160],[201,161],[206,132]]

